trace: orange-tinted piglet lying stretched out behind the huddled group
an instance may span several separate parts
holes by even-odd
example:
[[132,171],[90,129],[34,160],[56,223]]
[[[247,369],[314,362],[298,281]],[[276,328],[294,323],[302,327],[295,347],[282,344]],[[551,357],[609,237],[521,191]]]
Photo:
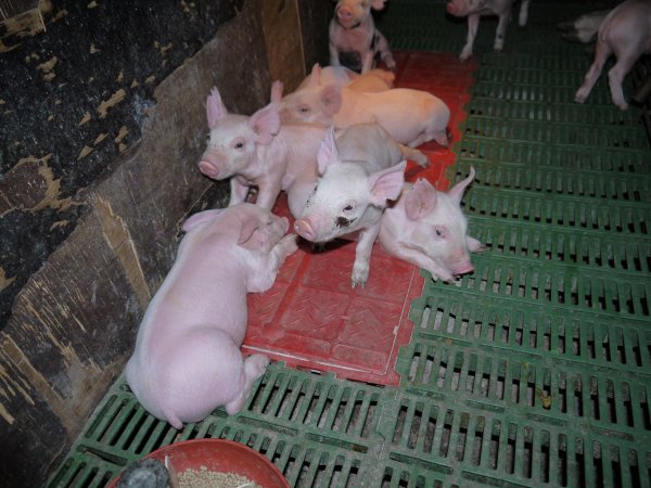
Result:
[[450,110],[433,94],[408,88],[357,92],[339,84],[310,86],[279,102],[283,124],[316,123],[345,129],[378,123],[401,144],[435,140],[447,145]]

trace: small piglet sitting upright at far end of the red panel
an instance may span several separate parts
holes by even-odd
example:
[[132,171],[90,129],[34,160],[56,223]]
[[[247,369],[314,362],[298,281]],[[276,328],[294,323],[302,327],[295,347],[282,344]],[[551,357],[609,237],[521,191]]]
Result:
[[330,64],[366,73],[380,55],[390,69],[396,62],[386,38],[375,28],[371,9],[382,10],[386,0],[339,0],[330,22]]

